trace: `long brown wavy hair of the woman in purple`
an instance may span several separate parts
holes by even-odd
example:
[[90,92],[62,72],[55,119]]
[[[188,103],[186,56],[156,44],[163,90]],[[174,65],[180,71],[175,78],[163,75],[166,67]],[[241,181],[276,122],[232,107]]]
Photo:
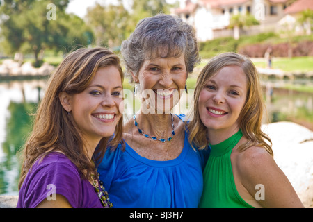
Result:
[[[35,114],[33,132],[22,151],[23,164],[19,189],[22,187],[27,173],[31,171],[33,163],[53,151],[64,153],[79,169],[82,178],[88,179],[91,174],[95,173],[95,165],[90,162],[83,148],[83,139],[79,129],[76,127],[72,115],[68,115],[64,110],[58,95],[60,92],[67,94],[83,92],[93,80],[98,69],[111,65],[118,68],[123,82],[120,59],[112,51],[102,47],[77,49],[58,65],[54,74],[49,78],[45,96]],[[122,122],[121,117],[115,128],[113,139],[104,137],[100,140],[93,154],[94,162],[102,159],[106,147],[116,148],[122,141]]]

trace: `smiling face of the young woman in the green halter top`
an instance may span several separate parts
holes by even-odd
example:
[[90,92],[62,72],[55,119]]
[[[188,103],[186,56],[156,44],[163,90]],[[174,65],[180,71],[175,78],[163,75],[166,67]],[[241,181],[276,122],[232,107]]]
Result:
[[199,114],[209,130],[235,132],[246,103],[247,78],[241,67],[229,65],[207,80],[199,96]]

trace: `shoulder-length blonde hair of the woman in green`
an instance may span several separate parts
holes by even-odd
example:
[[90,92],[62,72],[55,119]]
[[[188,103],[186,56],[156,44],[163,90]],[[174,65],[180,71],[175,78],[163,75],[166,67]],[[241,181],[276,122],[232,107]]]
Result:
[[244,151],[250,146],[263,146],[266,151],[273,156],[271,139],[261,130],[262,115],[265,107],[257,69],[249,58],[239,55],[238,53],[221,53],[212,58],[200,72],[193,95],[193,119],[188,123],[188,126],[186,126],[189,131],[188,141],[193,146],[197,146],[200,149],[209,145],[207,128],[200,119],[198,100],[200,92],[207,81],[216,75],[220,69],[229,65],[241,67],[248,80],[246,103],[243,105],[238,119],[239,128],[243,136],[248,139],[248,142],[239,146],[239,151]]

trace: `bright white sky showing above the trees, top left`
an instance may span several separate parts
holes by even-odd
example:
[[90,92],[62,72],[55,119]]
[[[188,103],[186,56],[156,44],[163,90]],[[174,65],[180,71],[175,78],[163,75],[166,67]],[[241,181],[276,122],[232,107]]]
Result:
[[[129,4],[129,0],[123,0],[125,4]],[[174,3],[176,0],[166,0],[168,3]],[[94,6],[95,3],[117,3],[116,0],[72,0],[67,6],[66,12],[74,13],[75,15],[83,18],[87,13],[87,8],[90,6]],[[125,7],[127,7],[125,5]]]

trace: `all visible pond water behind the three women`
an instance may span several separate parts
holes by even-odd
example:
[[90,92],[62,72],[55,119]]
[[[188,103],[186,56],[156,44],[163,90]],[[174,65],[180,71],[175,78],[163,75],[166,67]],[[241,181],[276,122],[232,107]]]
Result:
[[[264,90],[269,121],[294,121],[313,130],[313,94],[280,89],[284,84],[271,83],[273,90],[271,87]],[[264,85],[268,86],[269,83]],[[313,87],[312,80],[306,80],[305,85]],[[45,94],[45,87],[46,80],[0,81],[0,194],[18,194],[20,161],[16,154],[32,130],[31,113],[35,112],[38,101]],[[188,98],[191,98],[191,92],[189,90]],[[269,96],[271,99],[268,99]],[[125,103],[134,103],[125,100]],[[135,106],[128,106],[133,107],[135,111],[138,110],[138,102]],[[174,110],[177,114],[187,111],[188,106]]]

